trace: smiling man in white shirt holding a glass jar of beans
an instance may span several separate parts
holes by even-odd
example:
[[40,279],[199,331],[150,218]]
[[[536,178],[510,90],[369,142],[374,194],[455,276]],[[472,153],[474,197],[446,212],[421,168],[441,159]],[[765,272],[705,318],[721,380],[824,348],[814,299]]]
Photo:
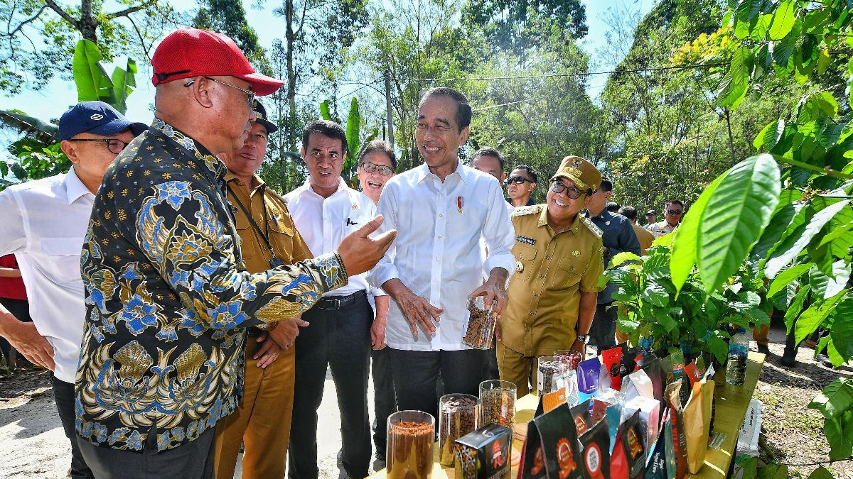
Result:
[[386,344],[400,410],[435,416],[439,371],[445,393],[477,395],[485,351],[461,343],[468,297],[494,302],[495,315],[507,306],[513,226],[496,178],[459,163],[470,122],[464,95],[428,90],[415,134],[424,164],[389,180],[379,202],[383,228],[396,228],[398,237],[368,278],[393,299]]

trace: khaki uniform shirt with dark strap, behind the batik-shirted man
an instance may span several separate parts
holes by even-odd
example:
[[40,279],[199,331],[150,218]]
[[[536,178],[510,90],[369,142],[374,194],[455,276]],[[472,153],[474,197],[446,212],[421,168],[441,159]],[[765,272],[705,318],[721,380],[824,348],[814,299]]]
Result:
[[305,240],[302,240],[299,231],[293,226],[293,218],[287,211],[284,199],[275,191],[266,188],[260,177],[252,177],[251,199],[245,184],[234,173],[226,173],[225,182],[228,183],[228,199],[232,205],[231,211],[234,211],[237,234],[240,234],[243,261],[249,273],[269,269],[272,253],[236,200],[252,213],[255,223],[267,235],[276,257],[282,262],[291,264],[313,257]]

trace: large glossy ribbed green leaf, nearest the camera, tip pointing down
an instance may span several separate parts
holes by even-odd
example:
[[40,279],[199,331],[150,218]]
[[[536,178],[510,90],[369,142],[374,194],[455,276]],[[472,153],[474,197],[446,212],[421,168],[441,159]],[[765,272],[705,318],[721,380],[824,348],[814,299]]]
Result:
[[740,268],[773,216],[780,191],[779,166],[769,154],[745,159],[724,174],[699,224],[696,256],[706,291]]

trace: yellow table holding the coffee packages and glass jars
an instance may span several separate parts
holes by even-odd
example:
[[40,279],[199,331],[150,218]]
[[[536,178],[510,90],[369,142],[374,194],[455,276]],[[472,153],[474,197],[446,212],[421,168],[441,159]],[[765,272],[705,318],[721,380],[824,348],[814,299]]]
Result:
[[[729,386],[725,381],[725,370],[718,372],[717,378],[719,379],[714,388],[716,414],[711,437],[718,436],[722,439],[721,445],[718,449],[708,448],[708,452],[705,454],[705,465],[702,466],[698,474],[690,477],[726,477],[728,475],[734,456],[734,447],[737,446],[738,442],[740,425],[744,422],[746,409],[749,407],[752,393],[755,392],[755,385],[758,382],[758,376],[761,375],[763,365],[764,355],[760,353],[749,354],[743,386]],[[525,395],[515,402],[513,465],[510,474],[512,478],[518,476],[518,462],[521,457],[521,448],[524,447],[524,440],[519,439],[519,437],[526,436],[527,422],[533,418],[538,404],[539,397],[537,395]],[[444,479],[445,477],[453,479],[456,477],[456,471],[452,467],[443,467],[438,464],[438,442],[433,447],[433,458],[432,479]],[[386,477],[385,470],[379,470],[370,477]]]

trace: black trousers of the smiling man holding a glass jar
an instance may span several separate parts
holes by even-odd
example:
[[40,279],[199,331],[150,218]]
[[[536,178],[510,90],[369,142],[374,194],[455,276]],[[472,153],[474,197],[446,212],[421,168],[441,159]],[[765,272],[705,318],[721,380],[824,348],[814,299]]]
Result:
[[[390,349],[390,348],[389,348]],[[438,372],[444,381],[444,394],[479,395],[483,378],[485,350],[404,351],[391,349],[394,390],[401,411],[415,409],[432,414],[438,420]],[[436,424],[438,429],[438,424]]]

